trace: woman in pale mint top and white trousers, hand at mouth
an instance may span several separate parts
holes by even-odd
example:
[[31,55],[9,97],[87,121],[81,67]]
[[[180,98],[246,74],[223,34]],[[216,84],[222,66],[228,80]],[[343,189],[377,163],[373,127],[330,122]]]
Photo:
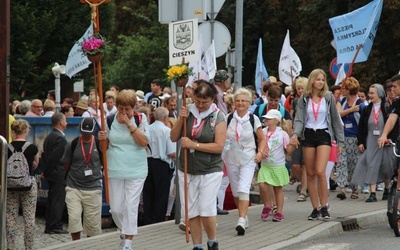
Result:
[[[122,90],[117,95],[117,113],[108,128],[108,184],[110,209],[115,224],[121,229],[125,246],[130,250],[133,236],[137,234],[140,194],[147,176],[146,146],[149,124],[142,113],[134,111],[136,95],[132,90]],[[99,132],[105,140],[106,131]]]

